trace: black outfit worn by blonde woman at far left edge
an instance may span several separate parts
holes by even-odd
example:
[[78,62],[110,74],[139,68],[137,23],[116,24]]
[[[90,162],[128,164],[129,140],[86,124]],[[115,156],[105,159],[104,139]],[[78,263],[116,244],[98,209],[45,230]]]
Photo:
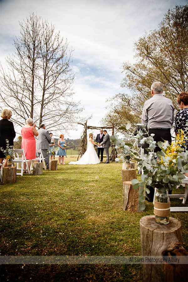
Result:
[[[5,150],[7,147],[6,139],[9,141],[9,146],[13,146],[13,139],[16,136],[13,123],[8,119],[0,120],[0,147]],[[0,150],[0,158],[6,158],[3,152]]]

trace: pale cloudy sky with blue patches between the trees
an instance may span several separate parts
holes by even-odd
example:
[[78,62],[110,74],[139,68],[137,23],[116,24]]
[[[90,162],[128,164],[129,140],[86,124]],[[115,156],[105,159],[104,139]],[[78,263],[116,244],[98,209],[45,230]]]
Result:
[[[73,49],[74,101],[84,107],[81,117],[100,126],[107,113],[107,99],[128,93],[120,87],[123,62],[134,63],[133,43],[156,29],[168,9],[185,5],[175,0],[0,0],[0,60],[12,54],[13,39],[20,34],[19,22],[34,12],[67,38]],[[21,131],[21,128],[20,128]],[[90,133],[91,130],[88,130]],[[81,125],[65,138],[80,138]],[[99,130],[92,131],[96,136]],[[56,137],[56,133],[54,137]],[[109,132],[110,133],[110,132]],[[58,137],[58,136],[57,136]]]

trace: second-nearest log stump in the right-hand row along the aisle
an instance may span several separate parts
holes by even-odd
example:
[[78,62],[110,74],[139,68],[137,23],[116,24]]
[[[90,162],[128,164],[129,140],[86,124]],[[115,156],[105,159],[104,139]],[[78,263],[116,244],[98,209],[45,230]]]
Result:
[[138,190],[133,189],[131,181],[123,182],[123,211],[140,212],[138,208]]

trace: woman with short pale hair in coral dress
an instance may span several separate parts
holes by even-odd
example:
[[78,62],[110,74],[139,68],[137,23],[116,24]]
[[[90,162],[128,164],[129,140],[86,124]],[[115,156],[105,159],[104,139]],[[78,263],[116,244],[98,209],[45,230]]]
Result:
[[[22,149],[24,149],[25,157],[28,160],[28,166],[30,167],[32,159],[36,158],[36,142],[35,136],[39,133],[36,130],[36,124],[33,123],[32,118],[26,120],[26,125],[22,128]],[[26,169],[26,164],[24,164],[24,169]]]

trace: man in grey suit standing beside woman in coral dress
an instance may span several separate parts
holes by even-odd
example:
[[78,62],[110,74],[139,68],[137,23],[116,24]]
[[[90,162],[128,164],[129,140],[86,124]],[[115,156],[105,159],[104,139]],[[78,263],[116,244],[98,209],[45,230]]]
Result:
[[[43,157],[45,158],[46,168],[49,169],[50,155],[47,154],[47,151],[49,150],[49,143],[51,142],[51,136],[48,130],[46,130],[45,124],[43,123],[39,126],[38,133],[39,135],[36,138],[36,149],[42,150]],[[39,153],[37,153],[37,155],[39,156]]]

